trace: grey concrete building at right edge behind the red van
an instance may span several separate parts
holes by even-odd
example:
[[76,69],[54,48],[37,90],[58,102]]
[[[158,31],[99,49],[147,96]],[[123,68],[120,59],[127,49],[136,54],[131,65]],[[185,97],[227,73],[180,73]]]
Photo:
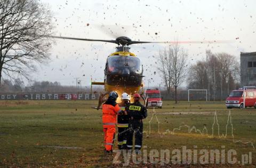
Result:
[[241,52],[241,86],[256,86],[256,52]]

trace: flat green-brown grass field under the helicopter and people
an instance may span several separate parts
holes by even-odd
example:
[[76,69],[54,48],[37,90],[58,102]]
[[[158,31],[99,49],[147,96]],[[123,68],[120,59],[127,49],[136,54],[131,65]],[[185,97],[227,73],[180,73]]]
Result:
[[[114,154],[106,156],[103,153],[101,110],[91,108],[96,104],[97,101],[0,101],[0,167],[122,166],[113,164]],[[217,119],[214,122],[215,111]],[[253,148],[256,146],[256,109],[230,111],[231,123],[224,102],[179,102],[175,105],[172,101],[164,101],[163,108],[156,109],[155,114],[153,109],[148,109],[148,117],[143,121],[143,145],[148,151],[172,151],[182,146],[221,150],[221,146],[225,146],[226,151],[237,151],[238,160],[242,154],[251,152],[252,164],[247,166],[256,166]],[[160,165],[130,163],[130,166]]]

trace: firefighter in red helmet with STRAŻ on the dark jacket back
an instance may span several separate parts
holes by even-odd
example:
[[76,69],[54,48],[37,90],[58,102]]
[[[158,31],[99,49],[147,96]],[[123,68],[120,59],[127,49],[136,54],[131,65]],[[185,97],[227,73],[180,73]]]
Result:
[[141,154],[143,123],[142,119],[147,117],[147,109],[140,103],[140,95],[138,93],[133,95],[134,103],[127,107],[127,114],[129,115],[129,132],[127,135],[127,149],[133,147],[133,134],[135,134],[135,152]]

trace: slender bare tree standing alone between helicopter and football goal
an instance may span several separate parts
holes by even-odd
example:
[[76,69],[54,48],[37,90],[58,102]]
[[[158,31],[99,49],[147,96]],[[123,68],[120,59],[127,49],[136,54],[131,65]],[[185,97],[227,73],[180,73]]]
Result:
[[171,44],[168,50],[159,53],[159,72],[163,76],[168,93],[174,87],[175,103],[177,103],[177,88],[182,84],[187,74],[187,56],[178,43]]

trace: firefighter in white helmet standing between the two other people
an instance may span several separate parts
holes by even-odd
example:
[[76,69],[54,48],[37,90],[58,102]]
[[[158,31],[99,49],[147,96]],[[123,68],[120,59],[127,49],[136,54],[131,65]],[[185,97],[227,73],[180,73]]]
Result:
[[117,127],[118,127],[118,149],[126,149],[127,131],[129,124],[129,116],[127,115],[125,108],[130,105],[130,96],[127,93],[123,93],[121,96],[122,102],[119,103],[120,108],[124,111],[123,114],[117,115]]

